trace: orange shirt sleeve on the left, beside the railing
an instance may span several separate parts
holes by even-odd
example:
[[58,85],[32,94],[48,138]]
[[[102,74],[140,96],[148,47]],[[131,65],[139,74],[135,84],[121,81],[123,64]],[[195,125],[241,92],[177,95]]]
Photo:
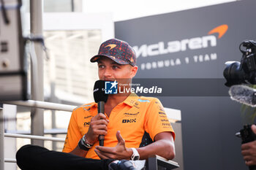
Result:
[[78,128],[78,121],[76,112],[73,111],[69,120],[69,127],[67,128],[67,136],[62,152],[71,152],[77,147],[79,140],[82,138]]

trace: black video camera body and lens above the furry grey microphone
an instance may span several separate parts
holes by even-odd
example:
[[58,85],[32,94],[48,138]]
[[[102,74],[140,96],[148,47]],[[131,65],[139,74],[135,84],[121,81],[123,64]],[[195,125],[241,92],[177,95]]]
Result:
[[241,83],[256,84],[256,42],[246,40],[241,43],[239,50],[243,54],[241,62],[227,61],[223,75],[225,85],[239,85]]

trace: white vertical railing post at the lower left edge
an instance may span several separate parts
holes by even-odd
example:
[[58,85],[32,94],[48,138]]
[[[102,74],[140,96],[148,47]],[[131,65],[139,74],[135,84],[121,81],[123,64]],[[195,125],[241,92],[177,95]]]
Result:
[[0,169],[4,170],[4,112],[0,107]]

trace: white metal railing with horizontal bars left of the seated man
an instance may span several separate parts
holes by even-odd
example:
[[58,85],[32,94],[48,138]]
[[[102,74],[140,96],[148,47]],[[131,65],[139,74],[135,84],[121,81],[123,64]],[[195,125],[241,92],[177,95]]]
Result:
[[[61,110],[72,112],[76,106],[67,105],[67,104],[55,104],[45,101],[4,101],[4,104],[14,104],[23,107],[35,107],[40,109],[52,109],[52,110]],[[39,140],[48,140],[54,142],[64,142],[65,139],[56,138],[56,137],[47,137],[47,136],[35,136],[35,135],[26,135],[26,134],[10,134],[4,133],[4,115],[3,111],[0,108],[0,169],[4,169],[4,162],[7,163],[16,163],[16,159],[4,158],[4,137],[13,137],[13,138],[26,138],[26,139],[39,139]],[[3,161],[4,160],[4,161]]]

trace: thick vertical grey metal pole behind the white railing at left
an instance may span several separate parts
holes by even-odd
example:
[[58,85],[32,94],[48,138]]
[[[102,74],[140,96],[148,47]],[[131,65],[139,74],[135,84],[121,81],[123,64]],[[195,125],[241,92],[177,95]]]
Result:
[[[30,30],[34,36],[42,36],[42,0],[31,0],[30,1]],[[42,45],[38,42],[34,45],[35,53],[37,55],[37,87],[31,85],[31,97],[36,101],[44,101],[44,87],[43,87],[43,56],[42,56]],[[31,69],[32,71],[33,69]],[[34,73],[35,74],[35,73]],[[31,75],[34,75],[31,72]],[[34,77],[31,77],[33,82]],[[33,84],[33,83],[32,83]],[[33,93],[32,93],[33,92]],[[31,110],[31,134],[33,135],[44,135],[44,116],[43,109],[32,109]],[[40,140],[31,140],[32,144],[44,146],[44,142]]]

